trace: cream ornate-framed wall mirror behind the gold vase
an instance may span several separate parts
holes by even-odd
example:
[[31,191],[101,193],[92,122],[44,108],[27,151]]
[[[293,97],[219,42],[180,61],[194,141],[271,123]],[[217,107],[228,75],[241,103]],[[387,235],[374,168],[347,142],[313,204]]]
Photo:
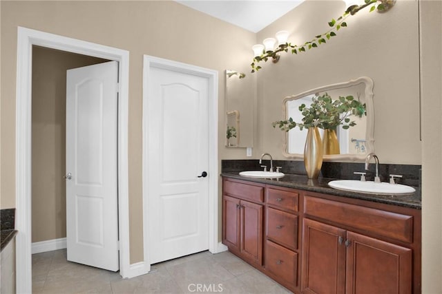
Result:
[[[322,94],[329,94],[332,98],[339,96],[354,96],[355,99],[365,103],[366,115],[362,118],[353,116],[351,119],[356,122],[354,127],[343,129],[338,127],[340,152],[339,154],[324,155],[324,160],[364,160],[370,152],[374,152],[374,101],[373,81],[367,76],[356,78],[344,83],[325,85],[309,90],[294,96],[288,96],[282,102],[283,115],[285,119],[293,118],[300,122],[302,114],[298,107],[303,103],[309,107],[311,98]],[[322,129],[320,129],[322,137]],[[307,129],[299,130],[298,127],[284,132],[284,144],[282,153],[288,158],[304,158],[305,138]]]

